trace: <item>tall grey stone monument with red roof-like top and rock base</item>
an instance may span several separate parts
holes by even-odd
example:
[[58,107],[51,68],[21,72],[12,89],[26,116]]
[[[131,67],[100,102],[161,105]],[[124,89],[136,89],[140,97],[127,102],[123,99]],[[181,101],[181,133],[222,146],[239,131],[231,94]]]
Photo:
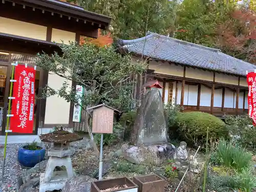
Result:
[[140,164],[150,154],[156,162],[164,158],[172,159],[175,146],[167,144],[167,122],[165,119],[162,96],[159,89],[162,86],[157,80],[149,80],[144,84],[145,96],[137,111],[133,127],[133,145],[123,145],[122,153],[127,161]]

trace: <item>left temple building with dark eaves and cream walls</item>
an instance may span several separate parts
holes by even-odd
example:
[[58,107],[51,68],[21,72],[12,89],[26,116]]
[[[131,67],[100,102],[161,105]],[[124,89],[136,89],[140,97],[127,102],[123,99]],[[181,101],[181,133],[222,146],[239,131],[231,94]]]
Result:
[[[57,0],[1,0],[0,2],[0,143],[4,142],[10,92],[11,63],[36,65],[42,51],[61,52],[57,43],[79,42],[80,36],[97,38],[99,29],[108,29],[111,18],[85,11]],[[35,90],[46,84],[58,89],[63,78],[36,68]],[[72,82],[70,82],[71,84]],[[40,97],[41,93],[37,93]],[[56,125],[72,126],[74,106],[57,96],[37,100],[32,135],[9,133],[8,142],[28,142]]]

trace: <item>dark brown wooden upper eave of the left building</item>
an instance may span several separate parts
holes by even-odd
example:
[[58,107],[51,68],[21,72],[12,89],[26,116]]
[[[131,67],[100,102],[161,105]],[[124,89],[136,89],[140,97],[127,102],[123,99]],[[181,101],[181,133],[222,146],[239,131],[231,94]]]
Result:
[[[11,12],[8,10],[10,12],[8,13],[6,8],[10,9]],[[67,28],[70,26],[71,31],[76,30],[85,36],[88,35],[83,34],[83,31],[108,29],[111,22],[111,17],[85,11],[78,6],[57,0],[2,0],[0,11],[0,16],[29,23],[35,23],[37,20],[41,23],[39,25],[51,25],[53,28],[57,22],[63,23],[62,25],[67,25]],[[14,14],[12,11],[18,12],[13,16],[11,15]],[[9,15],[11,16],[9,17]]]

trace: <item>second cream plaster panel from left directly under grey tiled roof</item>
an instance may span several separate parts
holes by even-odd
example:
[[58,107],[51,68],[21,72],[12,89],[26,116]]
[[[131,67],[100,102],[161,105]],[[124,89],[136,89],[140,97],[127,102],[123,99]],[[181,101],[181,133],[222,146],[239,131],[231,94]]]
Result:
[[214,73],[213,72],[203,71],[203,70],[193,69],[193,68],[188,68],[188,67],[186,67],[185,76],[187,78],[214,81]]

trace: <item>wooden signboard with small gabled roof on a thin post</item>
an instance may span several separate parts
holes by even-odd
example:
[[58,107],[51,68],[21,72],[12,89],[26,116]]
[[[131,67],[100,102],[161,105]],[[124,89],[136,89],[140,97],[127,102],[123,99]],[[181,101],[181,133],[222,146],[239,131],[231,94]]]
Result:
[[[100,133],[100,161],[99,161],[99,180],[102,180],[102,154],[103,154],[103,134],[113,133],[114,111],[118,110],[111,106],[99,104],[87,109],[93,110],[92,133]],[[120,112],[119,112],[120,113]]]

